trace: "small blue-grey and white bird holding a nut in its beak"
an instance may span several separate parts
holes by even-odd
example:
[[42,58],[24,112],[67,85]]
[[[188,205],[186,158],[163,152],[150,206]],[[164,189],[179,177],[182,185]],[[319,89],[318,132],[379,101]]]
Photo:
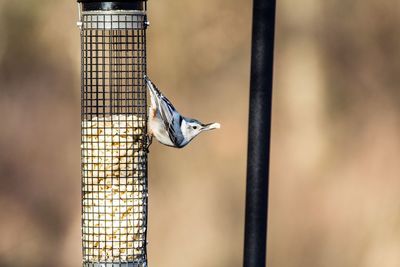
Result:
[[203,124],[196,119],[181,115],[147,75],[144,75],[144,80],[151,101],[148,119],[150,128],[148,146],[154,136],[163,145],[183,148],[200,133],[221,128],[221,124],[217,122]]

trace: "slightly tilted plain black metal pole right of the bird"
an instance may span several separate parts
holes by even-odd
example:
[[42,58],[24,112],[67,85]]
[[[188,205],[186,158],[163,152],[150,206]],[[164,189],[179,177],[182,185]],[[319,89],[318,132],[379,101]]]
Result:
[[254,0],[244,267],[266,266],[275,0]]

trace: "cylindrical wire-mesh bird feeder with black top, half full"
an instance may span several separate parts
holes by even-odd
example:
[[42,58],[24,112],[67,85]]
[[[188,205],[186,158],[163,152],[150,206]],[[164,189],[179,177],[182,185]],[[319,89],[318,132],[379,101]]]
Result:
[[147,266],[146,1],[78,6],[83,266]]

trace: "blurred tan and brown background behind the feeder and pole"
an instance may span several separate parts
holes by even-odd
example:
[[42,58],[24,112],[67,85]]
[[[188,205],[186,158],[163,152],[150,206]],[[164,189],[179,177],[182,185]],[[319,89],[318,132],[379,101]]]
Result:
[[[222,129],[150,153],[151,266],[241,266],[251,1],[149,1],[149,75]],[[0,266],[75,267],[74,1],[0,0]],[[268,262],[400,266],[400,2],[278,0]]]

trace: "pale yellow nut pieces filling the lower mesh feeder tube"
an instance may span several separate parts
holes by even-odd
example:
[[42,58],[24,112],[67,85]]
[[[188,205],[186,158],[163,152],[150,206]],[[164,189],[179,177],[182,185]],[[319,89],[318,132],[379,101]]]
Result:
[[145,127],[134,115],[82,122],[85,261],[133,261],[145,254]]

